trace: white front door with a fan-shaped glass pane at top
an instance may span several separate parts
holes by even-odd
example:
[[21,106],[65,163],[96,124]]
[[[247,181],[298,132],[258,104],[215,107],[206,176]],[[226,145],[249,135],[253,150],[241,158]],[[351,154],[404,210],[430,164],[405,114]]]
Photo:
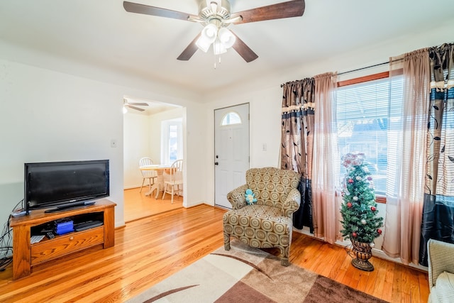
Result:
[[246,183],[249,104],[214,110],[214,204],[231,209],[227,194]]

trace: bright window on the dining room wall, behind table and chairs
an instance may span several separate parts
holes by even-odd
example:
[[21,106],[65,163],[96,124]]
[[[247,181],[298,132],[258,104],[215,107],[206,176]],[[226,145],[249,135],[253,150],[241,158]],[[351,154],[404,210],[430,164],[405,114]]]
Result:
[[182,119],[162,121],[161,163],[170,165],[183,158]]

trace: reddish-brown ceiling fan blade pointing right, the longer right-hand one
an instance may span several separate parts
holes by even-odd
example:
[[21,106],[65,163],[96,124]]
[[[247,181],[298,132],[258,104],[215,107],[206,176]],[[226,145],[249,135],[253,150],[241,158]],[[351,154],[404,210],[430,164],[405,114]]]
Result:
[[242,18],[233,22],[234,24],[241,24],[272,19],[299,17],[303,16],[304,8],[304,0],[294,0],[262,6],[256,9],[249,9],[247,11],[239,11],[238,13],[233,13],[231,18],[241,16]]

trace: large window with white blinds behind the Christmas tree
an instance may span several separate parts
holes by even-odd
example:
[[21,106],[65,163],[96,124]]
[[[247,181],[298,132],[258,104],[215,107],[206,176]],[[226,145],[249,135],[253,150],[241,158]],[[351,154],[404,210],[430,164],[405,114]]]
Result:
[[[377,74],[377,77],[382,74]],[[397,153],[398,133],[396,126],[401,122],[402,79],[389,78],[366,80],[348,85],[340,83],[337,92],[336,119],[339,154],[365,153],[369,170],[375,183],[375,193],[384,195],[387,183],[394,186],[396,172],[394,155]],[[392,93],[390,93],[392,92]],[[393,131],[394,130],[394,131]],[[339,160],[341,162],[341,160]],[[341,166],[339,180],[345,175]]]

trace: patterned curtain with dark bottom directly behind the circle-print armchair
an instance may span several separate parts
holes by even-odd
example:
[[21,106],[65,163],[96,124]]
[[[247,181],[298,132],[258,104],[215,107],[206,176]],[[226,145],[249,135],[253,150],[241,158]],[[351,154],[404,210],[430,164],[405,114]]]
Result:
[[314,137],[314,78],[282,84],[281,168],[301,174],[301,204],[294,212],[294,227],[308,226],[311,233],[312,149]]

